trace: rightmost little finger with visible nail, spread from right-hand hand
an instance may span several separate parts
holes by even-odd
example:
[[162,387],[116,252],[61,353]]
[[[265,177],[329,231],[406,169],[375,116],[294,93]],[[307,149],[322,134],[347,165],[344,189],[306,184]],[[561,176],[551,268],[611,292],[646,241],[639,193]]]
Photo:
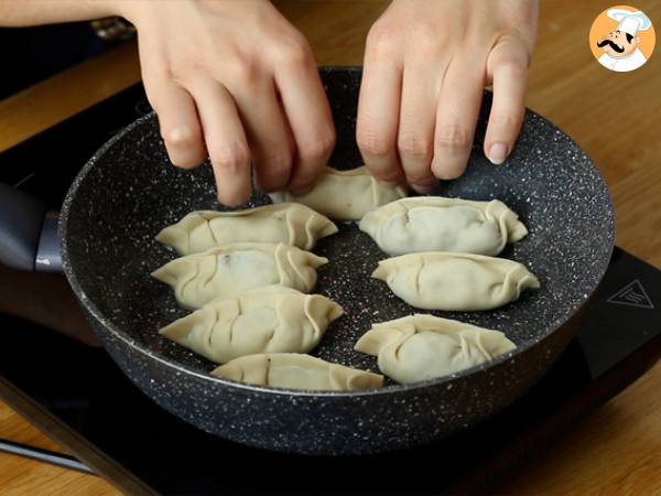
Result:
[[496,45],[487,62],[494,103],[485,137],[485,155],[495,164],[511,153],[521,131],[528,88],[528,53],[513,42]]

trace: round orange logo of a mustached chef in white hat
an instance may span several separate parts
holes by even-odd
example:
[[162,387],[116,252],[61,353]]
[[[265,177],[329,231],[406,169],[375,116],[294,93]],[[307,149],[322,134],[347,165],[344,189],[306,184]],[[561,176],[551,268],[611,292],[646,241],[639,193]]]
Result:
[[604,67],[618,73],[643,65],[654,51],[654,42],[650,18],[629,6],[605,10],[589,30],[593,55]]

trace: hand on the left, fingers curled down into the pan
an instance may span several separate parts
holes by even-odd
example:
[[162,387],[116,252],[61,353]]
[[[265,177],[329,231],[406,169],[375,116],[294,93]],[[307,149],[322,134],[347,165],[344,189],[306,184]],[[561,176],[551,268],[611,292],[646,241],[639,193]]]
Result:
[[208,152],[218,200],[305,193],[335,144],[312,51],[267,0],[119,0],[138,30],[142,77],[171,161]]

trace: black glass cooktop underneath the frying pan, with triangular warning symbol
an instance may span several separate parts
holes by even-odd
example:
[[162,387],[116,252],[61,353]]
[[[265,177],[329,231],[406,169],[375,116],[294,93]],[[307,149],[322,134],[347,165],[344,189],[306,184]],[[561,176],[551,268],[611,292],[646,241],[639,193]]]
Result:
[[[1,153],[0,181],[57,207],[98,145],[148,110],[132,87]],[[129,494],[488,492],[661,355],[661,271],[616,249],[587,305],[560,362],[514,405],[453,438],[383,455],[286,455],[215,438],[149,400],[102,349],[3,314],[0,397]]]

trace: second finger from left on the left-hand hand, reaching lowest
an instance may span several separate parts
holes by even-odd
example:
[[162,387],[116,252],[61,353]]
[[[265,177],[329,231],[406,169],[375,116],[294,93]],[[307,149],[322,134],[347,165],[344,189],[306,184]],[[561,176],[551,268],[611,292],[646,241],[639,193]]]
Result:
[[192,85],[206,148],[214,168],[218,201],[237,206],[250,198],[250,152],[234,98],[213,79]]

